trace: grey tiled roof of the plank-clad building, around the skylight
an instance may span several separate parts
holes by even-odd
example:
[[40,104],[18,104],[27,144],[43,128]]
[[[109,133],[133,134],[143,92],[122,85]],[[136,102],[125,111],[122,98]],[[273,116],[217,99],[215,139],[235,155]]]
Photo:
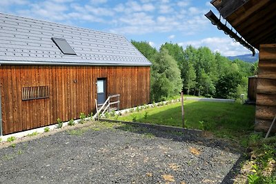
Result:
[[[63,54],[52,37],[77,55]],[[124,36],[0,13],[0,64],[150,65]]]

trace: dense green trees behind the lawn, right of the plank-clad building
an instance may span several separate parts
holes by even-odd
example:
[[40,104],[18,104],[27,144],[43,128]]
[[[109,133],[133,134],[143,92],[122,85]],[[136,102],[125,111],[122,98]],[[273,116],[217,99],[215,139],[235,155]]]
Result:
[[163,101],[184,91],[188,95],[221,99],[247,96],[248,76],[257,71],[256,63],[230,61],[207,47],[186,49],[164,43],[159,50],[146,41],[131,41],[152,63],[150,100]]

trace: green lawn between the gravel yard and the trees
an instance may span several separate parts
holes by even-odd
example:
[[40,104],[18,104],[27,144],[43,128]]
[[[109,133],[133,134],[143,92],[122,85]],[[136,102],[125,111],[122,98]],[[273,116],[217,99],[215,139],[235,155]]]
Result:
[[[241,141],[253,131],[255,107],[239,103],[185,101],[185,127]],[[148,114],[147,116],[145,114]],[[119,120],[181,127],[181,103],[119,116]]]

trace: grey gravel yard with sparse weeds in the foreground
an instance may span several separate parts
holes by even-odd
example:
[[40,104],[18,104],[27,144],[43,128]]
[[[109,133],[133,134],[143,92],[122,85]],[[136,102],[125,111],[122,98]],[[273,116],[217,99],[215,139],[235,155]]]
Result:
[[94,122],[1,148],[0,183],[232,183],[240,155],[195,132]]

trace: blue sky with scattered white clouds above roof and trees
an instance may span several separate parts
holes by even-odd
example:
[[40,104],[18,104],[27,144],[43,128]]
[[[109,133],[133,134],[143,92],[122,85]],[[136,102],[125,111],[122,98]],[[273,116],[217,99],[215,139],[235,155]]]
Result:
[[155,48],[166,42],[208,46],[224,56],[250,54],[204,17],[217,10],[210,0],[1,0],[0,12],[81,28],[123,34],[148,41]]

